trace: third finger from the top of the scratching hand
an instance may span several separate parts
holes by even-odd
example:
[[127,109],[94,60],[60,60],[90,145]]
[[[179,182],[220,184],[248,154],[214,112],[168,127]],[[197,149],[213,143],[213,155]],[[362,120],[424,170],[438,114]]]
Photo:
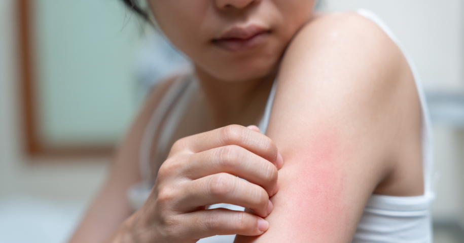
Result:
[[200,178],[189,183],[185,197],[179,205],[192,209],[217,203],[229,203],[253,210],[258,216],[266,217],[273,209],[267,192],[260,186],[249,183],[228,173]]

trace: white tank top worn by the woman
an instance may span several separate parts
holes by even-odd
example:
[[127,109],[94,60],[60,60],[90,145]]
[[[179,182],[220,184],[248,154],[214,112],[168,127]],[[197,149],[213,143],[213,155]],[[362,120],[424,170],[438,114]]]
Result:
[[[418,73],[411,58],[390,29],[375,14],[368,10],[358,10],[358,13],[382,28],[386,34],[403,51],[414,75],[419,99],[422,107],[422,153],[424,171],[424,189],[422,196],[397,197],[372,195],[364,209],[364,213],[354,234],[353,243],[384,242],[384,243],[429,243],[432,242],[432,224],[430,203],[434,198],[432,191],[433,150],[431,123],[425,95]],[[260,122],[262,133],[266,133],[267,125],[274,100],[276,84],[274,83],[266,105],[263,119]],[[148,146],[147,146],[148,147]],[[211,205],[208,209],[224,207],[230,210],[243,211],[243,207],[230,204]],[[234,241],[234,235],[212,236],[199,240],[199,243],[229,243]]]

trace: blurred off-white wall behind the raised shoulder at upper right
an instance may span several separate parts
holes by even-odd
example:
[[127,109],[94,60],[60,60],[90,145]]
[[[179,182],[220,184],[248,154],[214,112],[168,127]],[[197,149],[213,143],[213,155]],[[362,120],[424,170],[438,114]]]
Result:
[[464,1],[324,0],[322,7],[375,12],[410,53],[427,90],[464,92]]

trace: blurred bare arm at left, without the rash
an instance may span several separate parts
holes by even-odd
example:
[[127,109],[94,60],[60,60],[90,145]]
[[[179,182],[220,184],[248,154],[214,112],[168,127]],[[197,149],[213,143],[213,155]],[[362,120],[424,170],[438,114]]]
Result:
[[108,180],[70,239],[71,243],[103,242],[132,214],[126,195],[128,188],[140,181],[138,157],[141,138],[151,114],[173,80],[162,82],[150,93],[119,146]]

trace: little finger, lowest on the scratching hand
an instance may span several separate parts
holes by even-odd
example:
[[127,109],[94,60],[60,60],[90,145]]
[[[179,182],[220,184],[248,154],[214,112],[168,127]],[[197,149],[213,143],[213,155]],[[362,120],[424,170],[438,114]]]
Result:
[[185,214],[183,228],[189,238],[200,239],[213,235],[261,235],[269,223],[264,219],[245,212],[227,209],[213,209]]

